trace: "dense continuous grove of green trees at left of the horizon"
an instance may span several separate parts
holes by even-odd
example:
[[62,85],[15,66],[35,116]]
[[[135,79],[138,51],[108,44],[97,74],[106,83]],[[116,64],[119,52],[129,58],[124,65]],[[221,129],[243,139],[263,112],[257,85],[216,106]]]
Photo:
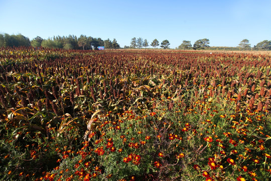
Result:
[[19,47],[19,46],[33,46],[45,48],[63,48],[63,49],[82,49],[82,50],[97,50],[99,46],[105,48],[120,48],[116,39],[113,41],[102,40],[101,38],[93,38],[91,36],[81,35],[77,38],[74,35],[69,36],[54,36],[53,38],[43,39],[39,36],[33,38],[31,41],[28,37],[22,34],[9,35],[7,33],[0,34],[0,47]]

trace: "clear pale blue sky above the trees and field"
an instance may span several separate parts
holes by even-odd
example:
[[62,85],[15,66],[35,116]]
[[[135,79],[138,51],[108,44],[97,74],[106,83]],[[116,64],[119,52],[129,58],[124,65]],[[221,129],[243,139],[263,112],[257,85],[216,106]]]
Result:
[[132,0],[0,0],[0,33],[30,40],[81,34],[103,40],[115,38],[121,47],[133,37],[169,40],[207,38],[210,46],[251,46],[271,40],[271,0],[132,1]]

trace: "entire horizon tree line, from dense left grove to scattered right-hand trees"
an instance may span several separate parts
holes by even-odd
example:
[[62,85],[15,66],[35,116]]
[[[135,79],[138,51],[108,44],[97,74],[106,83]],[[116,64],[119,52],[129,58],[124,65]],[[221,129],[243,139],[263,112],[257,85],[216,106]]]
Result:
[[[226,50],[271,50],[271,41],[263,40],[253,47],[251,47],[249,40],[243,39],[239,46],[237,47],[210,47],[210,41],[207,38],[200,39],[191,44],[191,41],[183,40],[182,44],[176,49],[183,50],[203,50],[203,49],[226,49]],[[161,44],[157,39],[154,39],[149,45],[147,39],[143,38],[132,38],[130,46],[124,46],[124,48],[147,48],[152,46],[153,48],[157,47],[169,49],[170,42],[168,40],[163,40]],[[63,48],[63,49],[81,49],[81,50],[97,50],[99,46],[104,46],[106,49],[118,49],[120,48],[116,39],[112,41],[108,38],[107,40],[102,40],[101,38],[93,38],[91,36],[80,35],[76,37],[74,35],[69,36],[54,36],[52,38],[43,39],[39,36],[30,40],[28,37],[25,37],[22,34],[18,35],[9,35],[7,33],[0,34],[0,47],[19,47],[19,46],[33,46],[33,47],[45,47],[45,48]]]

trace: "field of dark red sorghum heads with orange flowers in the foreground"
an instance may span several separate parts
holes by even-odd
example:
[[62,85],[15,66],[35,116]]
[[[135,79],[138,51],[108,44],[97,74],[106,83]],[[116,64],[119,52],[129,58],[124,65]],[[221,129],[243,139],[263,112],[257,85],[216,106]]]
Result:
[[271,57],[0,49],[3,180],[270,180]]

